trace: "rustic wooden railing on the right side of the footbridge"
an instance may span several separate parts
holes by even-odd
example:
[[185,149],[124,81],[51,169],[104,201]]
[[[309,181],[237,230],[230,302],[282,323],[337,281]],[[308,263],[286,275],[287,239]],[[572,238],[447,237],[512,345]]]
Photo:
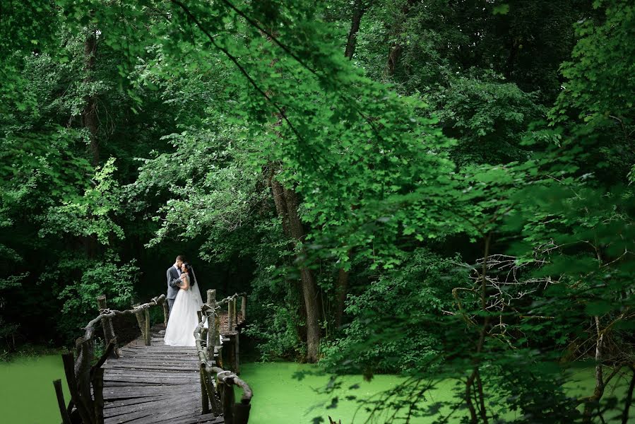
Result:
[[[241,298],[242,322],[245,319],[247,295],[236,293],[228,298],[216,302],[216,290],[207,290],[207,302],[201,308],[200,322],[194,330],[196,350],[201,362],[201,399],[203,413],[211,412],[215,416],[222,415],[225,423],[247,424],[251,409],[251,389],[249,385],[237,376],[238,360],[238,332],[237,328],[237,300]],[[216,312],[227,303],[227,331],[220,329],[220,315]],[[207,324],[207,325],[206,325]],[[225,336],[225,337],[222,337]],[[225,355],[223,355],[225,351]],[[222,367],[231,365],[232,371]],[[237,404],[233,385],[242,389],[242,397]]]

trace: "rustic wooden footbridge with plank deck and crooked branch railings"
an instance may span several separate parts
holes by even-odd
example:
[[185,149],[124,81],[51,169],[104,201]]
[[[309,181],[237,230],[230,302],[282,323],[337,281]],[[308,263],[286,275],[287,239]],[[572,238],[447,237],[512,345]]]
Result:
[[[97,305],[100,314],[85,326],[74,352],[62,355],[69,404],[61,379],[53,382],[63,424],[247,423],[251,389],[237,376],[247,295],[236,293],[216,302],[216,290],[208,290],[193,330],[195,347],[163,343],[165,295],[124,311],[109,310],[105,296],[97,298]],[[153,307],[162,308],[163,322],[150,322]],[[112,323],[120,315],[134,315],[141,329],[141,336],[121,347]],[[95,362],[97,324],[107,348]],[[242,389],[239,402],[234,386]]]

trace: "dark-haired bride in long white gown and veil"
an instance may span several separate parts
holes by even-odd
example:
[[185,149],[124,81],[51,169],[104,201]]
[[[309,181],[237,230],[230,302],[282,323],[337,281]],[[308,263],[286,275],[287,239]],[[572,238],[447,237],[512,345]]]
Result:
[[192,266],[184,262],[181,266],[179,293],[174,300],[170,318],[167,320],[163,341],[170,346],[196,346],[194,329],[198,325],[197,311],[203,306],[201,292],[196,284]]

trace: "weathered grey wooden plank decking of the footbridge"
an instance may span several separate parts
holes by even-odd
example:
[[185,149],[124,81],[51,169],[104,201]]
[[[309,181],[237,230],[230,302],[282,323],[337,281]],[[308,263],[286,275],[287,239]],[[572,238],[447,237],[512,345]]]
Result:
[[139,337],[104,364],[105,424],[224,423],[201,415],[196,348],[165,346],[162,327],[153,327],[150,346]]

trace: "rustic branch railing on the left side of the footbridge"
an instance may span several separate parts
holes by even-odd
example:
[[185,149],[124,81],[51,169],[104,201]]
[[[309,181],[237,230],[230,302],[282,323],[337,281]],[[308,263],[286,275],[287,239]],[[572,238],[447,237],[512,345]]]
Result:
[[[119,311],[107,308],[106,296],[97,298],[97,305],[100,314],[84,327],[84,335],[75,341],[75,353],[64,353],[64,374],[69,385],[71,401],[68,405],[64,401],[64,394],[61,389],[61,380],[53,382],[57,404],[63,424],[78,422],[78,418],[83,424],[102,424],[104,422],[104,370],[102,365],[108,358],[119,358],[117,347],[117,336],[114,334],[112,318],[118,315],[134,314],[137,318],[139,329],[143,335],[146,346],[150,346],[150,307],[162,305],[164,324],[167,324],[167,302],[165,295],[160,295],[143,305],[133,305],[132,309]],[[103,355],[97,360],[95,365],[90,365],[95,353],[95,326],[101,323],[104,331],[107,347]],[[71,420],[71,418],[73,418]]]

